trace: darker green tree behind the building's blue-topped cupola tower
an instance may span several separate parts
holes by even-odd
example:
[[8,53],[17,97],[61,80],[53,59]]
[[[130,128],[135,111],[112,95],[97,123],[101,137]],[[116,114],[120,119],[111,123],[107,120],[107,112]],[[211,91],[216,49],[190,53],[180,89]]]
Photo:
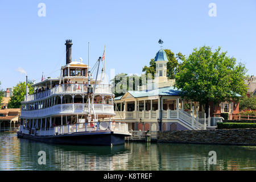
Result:
[[[174,54],[174,52],[172,52],[170,49],[164,49],[164,51],[166,52],[166,56],[168,59],[168,63],[167,63],[167,77],[170,79],[175,78],[175,75],[177,73],[177,71],[179,69],[177,69],[177,67],[179,66],[178,60],[182,60],[184,59],[184,55],[182,55],[182,53],[177,53],[176,56]],[[150,66],[147,67],[146,65],[142,68],[143,72],[146,72],[146,75],[148,73],[152,74],[152,78],[154,78],[154,74],[156,73],[156,64],[155,64],[155,59],[151,59],[150,60]]]

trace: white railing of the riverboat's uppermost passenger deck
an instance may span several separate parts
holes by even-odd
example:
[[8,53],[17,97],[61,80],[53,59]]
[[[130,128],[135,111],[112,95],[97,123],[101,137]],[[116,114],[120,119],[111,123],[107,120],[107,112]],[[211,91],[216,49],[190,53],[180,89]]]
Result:
[[[94,85],[92,85],[93,87]],[[24,101],[36,101],[52,96],[53,94],[65,94],[65,93],[81,93],[86,94],[88,86],[86,84],[61,84],[57,85],[51,89],[30,94],[25,96]],[[112,94],[110,85],[97,84],[95,89],[95,94]]]

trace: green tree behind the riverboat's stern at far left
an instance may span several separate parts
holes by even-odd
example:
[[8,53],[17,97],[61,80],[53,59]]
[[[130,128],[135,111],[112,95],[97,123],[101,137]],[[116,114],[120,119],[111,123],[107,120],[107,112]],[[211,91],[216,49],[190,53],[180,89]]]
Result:
[[[29,89],[29,94],[34,93],[34,88],[31,87],[32,84],[32,81],[28,81],[27,88]],[[19,82],[13,89],[13,93],[8,103],[8,107],[20,108],[20,102],[24,101],[24,96],[26,96],[26,82]]]

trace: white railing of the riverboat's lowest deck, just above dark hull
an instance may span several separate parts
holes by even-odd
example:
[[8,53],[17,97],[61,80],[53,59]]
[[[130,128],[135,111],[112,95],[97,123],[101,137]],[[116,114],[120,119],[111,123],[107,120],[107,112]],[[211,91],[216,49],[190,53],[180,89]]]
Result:
[[[128,133],[128,125],[123,122],[90,122],[90,123],[76,123],[71,125],[61,125],[51,127],[50,129],[30,129],[28,127],[20,127],[20,131],[24,134],[31,134],[30,131],[35,130],[36,136],[50,136],[50,135],[63,135],[80,132],[93,132],[93,131],[120,131]],[[34,135],[34,134],[33,134]]]

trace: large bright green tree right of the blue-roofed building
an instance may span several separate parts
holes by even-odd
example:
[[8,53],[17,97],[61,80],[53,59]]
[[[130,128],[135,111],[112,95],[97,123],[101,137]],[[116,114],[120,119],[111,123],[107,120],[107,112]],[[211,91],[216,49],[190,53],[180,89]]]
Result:
[[245,65],[236,65],[234,57],[220,50],[220,47],[215,52],[207,46],[195,48],[184,59],[175,77],[175,86],[181,90],[183,98],[198,101],[207,108],[209,102],[237,100],[237,93],[245,96]]

